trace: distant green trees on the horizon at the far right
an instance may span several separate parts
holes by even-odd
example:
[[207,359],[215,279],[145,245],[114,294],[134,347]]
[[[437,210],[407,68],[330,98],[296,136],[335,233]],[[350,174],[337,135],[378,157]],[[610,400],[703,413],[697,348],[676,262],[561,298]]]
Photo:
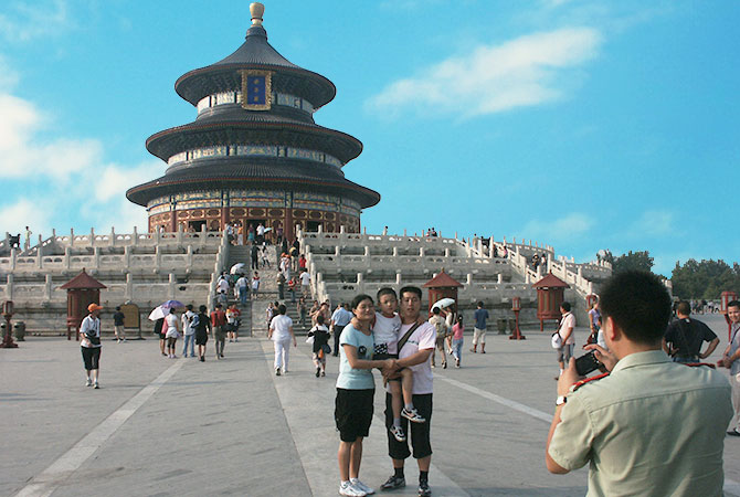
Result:
[[[648,251],[630,251],[617,257],[606,251],[601,257],[612,263],[614,274],[630,269],[653,269],[653,257]],[[732,263],[730,266],[721,260],[697,262],[694,258],[689,258],[684,265],[676,262],[670,282],[674,296],[686,300],[691,298],[718,299],[725,290],[740,295],[740,264]]]

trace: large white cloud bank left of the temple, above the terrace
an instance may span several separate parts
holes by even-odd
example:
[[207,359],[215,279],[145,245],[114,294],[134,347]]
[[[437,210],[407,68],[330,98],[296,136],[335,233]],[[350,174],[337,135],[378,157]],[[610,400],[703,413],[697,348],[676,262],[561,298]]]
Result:
[[[0,59],[0,70],[3,64]],[[161,161],[105,163],[105,147],[99,140],[44,138],[56,131],[53,119],[33,102],[2,87],[0,109],[0,179],[17,184],[10,189],[14,194],[0,199],[0,232],[17,233],[25,225],[31,226],[34,237],[50,235],[52,228],[66,231],[71,225],[85,231],[116,226],[121,232],[136,225],[147,231],[146,210],[129,202],[125,192],[159,176],[165,167]],[[38,191],[42,193],[33,195]]]

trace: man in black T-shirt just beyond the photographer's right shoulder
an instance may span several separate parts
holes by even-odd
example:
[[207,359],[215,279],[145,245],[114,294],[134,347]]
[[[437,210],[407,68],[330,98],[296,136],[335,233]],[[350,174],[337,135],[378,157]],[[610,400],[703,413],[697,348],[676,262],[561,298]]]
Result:
[[[674,362],[699,362],[711,356],[719,345],[719,338],[707,325],[691,319],[691,306],[687,302],[679,302],[676,306],[676,319],[666,329],[663,338],[663,350]],[[701,352],[701,343],[708,341],[707,350]]]

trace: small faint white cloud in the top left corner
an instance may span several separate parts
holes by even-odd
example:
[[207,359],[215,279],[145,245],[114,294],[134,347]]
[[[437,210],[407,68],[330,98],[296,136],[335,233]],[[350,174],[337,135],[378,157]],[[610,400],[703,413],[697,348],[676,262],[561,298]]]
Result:
[[74,25],[65,0],[14,2],[0,12],[0,38],[8,42],[28,42],[56,35]]

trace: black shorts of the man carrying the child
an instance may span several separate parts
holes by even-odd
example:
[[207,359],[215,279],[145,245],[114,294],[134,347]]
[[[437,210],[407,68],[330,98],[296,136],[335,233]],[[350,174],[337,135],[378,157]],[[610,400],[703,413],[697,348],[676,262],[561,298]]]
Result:
[[[390,393],[385,392],[385,427],[393,426],[393,408]],[[413,448],[413,456],[421,459],[432,455],[431,441],[431,423],[432,423],[432,394],[425,393],[421,395],[413,395],[414,408],[420,415],[426,417],[425,423],[410,423],[405,417],[401,417],[401,427],[404,433],[409,433],[409,425],[411,425],[411,448]],[[388,455],[393,459],[405,459],[411,455],[409,451],[409,442],[399,442],[388,431]]]

